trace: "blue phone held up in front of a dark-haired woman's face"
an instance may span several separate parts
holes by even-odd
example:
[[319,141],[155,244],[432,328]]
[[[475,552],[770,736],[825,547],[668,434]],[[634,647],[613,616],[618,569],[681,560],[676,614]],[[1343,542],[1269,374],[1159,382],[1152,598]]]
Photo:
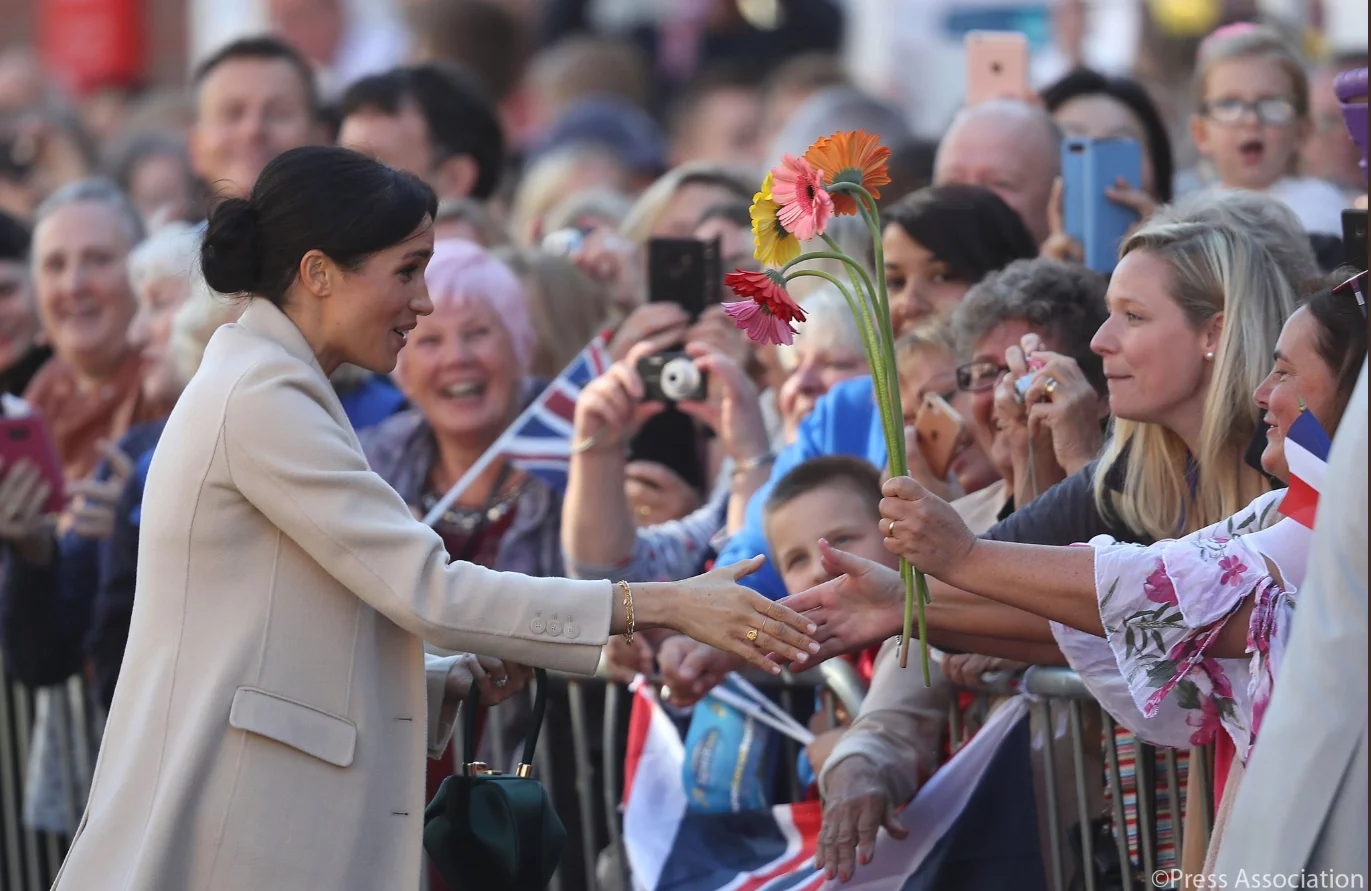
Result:
[[1061,144],[1063,223],[1080,243],[1086,266],[1109,274],[1119,262],[1119,243],[1138,214],[1111,202],[1105,189],[1123,177],[1142,182],[1142,148],[1134,140],[1068,138]]

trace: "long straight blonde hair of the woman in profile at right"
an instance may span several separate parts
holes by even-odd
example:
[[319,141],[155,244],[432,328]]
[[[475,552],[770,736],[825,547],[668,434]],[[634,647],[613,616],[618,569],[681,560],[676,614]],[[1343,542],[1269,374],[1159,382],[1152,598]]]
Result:
[[[1201,529],[1268,488],[1243,455],[1260,418],[1252,393],[1296,308],[1290,277],[1302,270],[1293,259],[1298,251],[1286,249],[1281,263],[1267,249],[1270,241],[1304,241],[1298,221],[1282,211],[1253,193],[1208,196],[1160,210],[1120,249],[1120,256],[1146,251],[1171,267],[1171,297],[1196,329],[1223,317],[1198,454],[1160,424],[1116,418],[1095,469],[1101,513],[1138,533],[1171,539]],[[1191,462],[1198,473],[1193,487]]]

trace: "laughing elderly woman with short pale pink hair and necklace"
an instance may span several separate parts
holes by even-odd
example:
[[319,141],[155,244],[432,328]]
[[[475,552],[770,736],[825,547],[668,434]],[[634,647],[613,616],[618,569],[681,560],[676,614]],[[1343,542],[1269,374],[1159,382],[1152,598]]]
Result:
[[[428,513],[537,393],[525,381],[536,336],[513,271],[468,241],[439,241],[425,273],[433,313],[420,317],[395,367],[413,408],[362,435],[372,467]],[[561,498],[498,461],[436,529],[452,559],[562,574]]]

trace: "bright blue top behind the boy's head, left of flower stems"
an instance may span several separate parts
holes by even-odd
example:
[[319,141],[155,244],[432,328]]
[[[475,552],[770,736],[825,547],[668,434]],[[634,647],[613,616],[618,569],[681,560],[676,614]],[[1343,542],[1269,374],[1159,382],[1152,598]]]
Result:
[[727,566],[765,554],[766,565],[744,578],[743,584],[772,600],[786,596],[786,584],[771,562],[771,548],[762,528],[762,504],[766,503],[772,485],[787,472],[821,455],[856,455],[877,467],[886,466],[886,433],[880,426],[876,400],[872,399],[869,377],[843,381],[820,398],[810,415],[801,421],[795,441],[776,458],[771,480],[747,502],[743,528],[728,539],[718,555],[717,565]]

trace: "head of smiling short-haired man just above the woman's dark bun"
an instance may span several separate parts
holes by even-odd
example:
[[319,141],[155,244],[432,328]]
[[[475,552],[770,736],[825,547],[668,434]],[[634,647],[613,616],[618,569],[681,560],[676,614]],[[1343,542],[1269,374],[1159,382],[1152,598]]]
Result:
[[314,71],[274,37],[228,44],[200,63],[191,89],[191,164],[211,195],[247,195],[269,160],[322,141]]

